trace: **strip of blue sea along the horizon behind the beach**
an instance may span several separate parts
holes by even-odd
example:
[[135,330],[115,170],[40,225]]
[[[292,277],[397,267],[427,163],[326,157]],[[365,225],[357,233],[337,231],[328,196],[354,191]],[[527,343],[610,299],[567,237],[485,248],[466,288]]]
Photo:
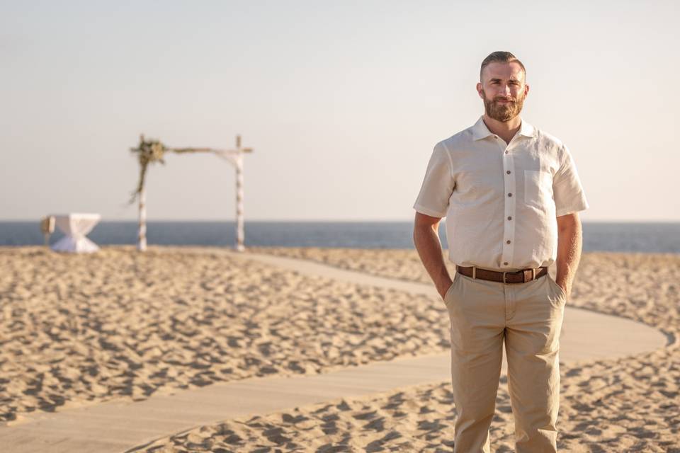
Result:
[[[157,245],[233,246],[234,222],[148,222]],[[245,224],[246,246],[414,248],[412,222],[261,222]],[[446,247],[444,222],[439,236]],[[50,243],[62,237],[50,236]],[[99,245],[134,244],[136,222],[100,222],[88,237]],[[0,246],[41,245],[40,223],[0,222]],[[584,251],[680,253],[680,223],[583,222]]]

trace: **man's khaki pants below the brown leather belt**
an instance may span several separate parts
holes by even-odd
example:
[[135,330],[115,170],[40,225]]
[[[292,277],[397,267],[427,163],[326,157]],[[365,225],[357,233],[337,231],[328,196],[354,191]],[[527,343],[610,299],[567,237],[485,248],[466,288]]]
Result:
[[557,452],[560,331],[567,297],[550,275],[504,284],[455,273],[450,318],[456,453],[489,453],[502,348],[517,453]]

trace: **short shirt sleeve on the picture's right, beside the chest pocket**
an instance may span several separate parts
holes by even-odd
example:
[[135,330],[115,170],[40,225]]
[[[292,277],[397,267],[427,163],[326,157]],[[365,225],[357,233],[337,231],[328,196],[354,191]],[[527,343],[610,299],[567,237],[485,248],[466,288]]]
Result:
[[560,168],[553,176],[556,217],[587,210],[589,207],[572,154],[564,145],[560,161]]

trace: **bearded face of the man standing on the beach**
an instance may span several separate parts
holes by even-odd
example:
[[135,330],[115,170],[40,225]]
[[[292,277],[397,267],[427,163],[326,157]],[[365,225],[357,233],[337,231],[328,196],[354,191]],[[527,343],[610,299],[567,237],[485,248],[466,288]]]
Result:
[[501,122],[519,115],[528,91],[522,67],[516,62],[489,63],[482,71],[482,81],[477,84],[487,115]]

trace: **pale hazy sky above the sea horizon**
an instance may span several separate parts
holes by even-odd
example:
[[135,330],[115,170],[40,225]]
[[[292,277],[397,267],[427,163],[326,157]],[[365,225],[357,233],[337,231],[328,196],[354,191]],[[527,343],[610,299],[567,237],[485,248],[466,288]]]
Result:
[[[527,122],[569,147],[584,222],[680,221],[676,1],[0,0],[0,219],[131,220],[141,133],[244,157],[250,220],[410,221],[482,59],[527,69]],[[234,168],[169,155],[149,220],[233,220]]]

